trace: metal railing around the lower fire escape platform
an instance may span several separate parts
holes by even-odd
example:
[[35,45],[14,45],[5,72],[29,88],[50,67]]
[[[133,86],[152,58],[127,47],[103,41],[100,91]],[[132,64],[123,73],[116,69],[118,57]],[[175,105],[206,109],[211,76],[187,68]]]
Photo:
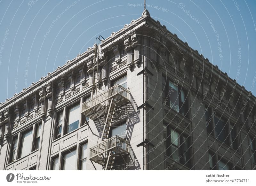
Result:
[[106,151],[115,149],[116,147],[122,151],[130,152],[130,144],[128,141],[124,140],[119,136],[113,136],[106,141],[99,143],[94,147],[91,147],[89,159],[98,156]]

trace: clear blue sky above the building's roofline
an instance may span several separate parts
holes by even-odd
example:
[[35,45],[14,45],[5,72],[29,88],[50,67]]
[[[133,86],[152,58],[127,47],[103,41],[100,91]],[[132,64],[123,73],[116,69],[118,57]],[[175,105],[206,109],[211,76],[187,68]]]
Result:
[[[107,38],[138,19],[143,3],[0,0],[0,102],[92,47],[98,35]],[[152,18],[256,95],[255,0],[146,3]]]

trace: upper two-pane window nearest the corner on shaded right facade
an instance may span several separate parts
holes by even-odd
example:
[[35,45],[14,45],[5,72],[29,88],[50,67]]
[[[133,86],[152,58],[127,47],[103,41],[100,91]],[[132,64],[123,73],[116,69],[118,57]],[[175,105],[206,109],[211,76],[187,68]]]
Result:
[[171,109],[180,112],[183,116],[186,116],[188,114],[188,106],[186,101],[187,94],[178,86],[178,82],[178,80],[175,80],[175,82],[170,80],[166,81],[165,78],[162,80],[162,84],[165,84],[163,91],[163,93],[165,93],[163,97],[164,105],[166,104],[170,106]]

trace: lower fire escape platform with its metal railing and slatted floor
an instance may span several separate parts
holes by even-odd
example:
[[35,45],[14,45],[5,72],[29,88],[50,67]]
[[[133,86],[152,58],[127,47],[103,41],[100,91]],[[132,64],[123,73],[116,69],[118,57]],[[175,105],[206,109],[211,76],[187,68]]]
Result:
[[113,136],[106,141],[91,147],[89,159],[102,166],[105,166],[107,162],[103,153],[107,151],[112,151],[115,156],[129,155],[130,144],[119,136]]

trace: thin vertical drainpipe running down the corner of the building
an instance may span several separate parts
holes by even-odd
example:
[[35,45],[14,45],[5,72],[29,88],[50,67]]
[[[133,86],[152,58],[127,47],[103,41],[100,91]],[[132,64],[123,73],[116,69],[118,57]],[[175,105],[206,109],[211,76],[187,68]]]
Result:
[[[148,37],[143,36],[143,68],[148,67]],[[145,73],[143,73],[143,103],[148,101],[148,78]],[[143,108],[143,141],[148,139],[148,117],[146,113],[148,112],[148,107]],[[144,157],[144,170],[148,170],[148,155],[147,155],[147,146],[143,146],[143,157]]]

